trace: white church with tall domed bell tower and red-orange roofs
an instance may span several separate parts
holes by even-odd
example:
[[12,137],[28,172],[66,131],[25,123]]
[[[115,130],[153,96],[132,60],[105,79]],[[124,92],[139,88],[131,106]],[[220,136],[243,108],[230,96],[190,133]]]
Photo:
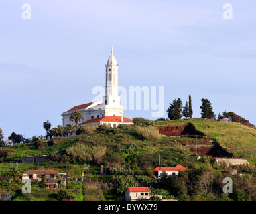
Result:
[[65,127],[67,124],[76,125],[70,121],[70,115],[75,110],[82,113],[84,120],[80,120],[80,126],[99,126],[107,125],[113,128],[119,124],[133,124],[133,120],[123,116],[123,106],[120,104],[118,95],[118,64],[111,49],[111,56],[107,60],[106,67],[106,86],[103,102],[90,102],[82,105],[76,105],[62,114],[62,122]]

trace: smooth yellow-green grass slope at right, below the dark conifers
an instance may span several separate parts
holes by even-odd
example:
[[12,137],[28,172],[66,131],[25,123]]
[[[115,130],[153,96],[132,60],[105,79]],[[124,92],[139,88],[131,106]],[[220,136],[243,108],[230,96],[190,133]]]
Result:
[[234,156],[256,164],[256,130],[235,122],[221,123],[212,120],[174,120],[155,122],[154,126],[182,126],[192,123],[210,139]]

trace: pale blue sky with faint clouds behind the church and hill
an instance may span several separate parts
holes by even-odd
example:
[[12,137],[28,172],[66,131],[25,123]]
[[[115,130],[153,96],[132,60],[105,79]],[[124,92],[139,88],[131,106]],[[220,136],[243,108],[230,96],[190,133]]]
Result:
[[[24,19],[25,3],[31,19]],[[232,19],[223,17],[226,3]],[[254,1],[8,0],[0,8],[5,138],[44,135],[43,122],[53,128],[75,102],[91,102],[92,88],[105,86],[112,46],[119,86],[164,87],[164,118],[172,100],[186,104],[190,94],[194,117],[208,98],[216,115],[233,111],[256,124]],[[127,109],[124,116],[157,119],[152,112]]]

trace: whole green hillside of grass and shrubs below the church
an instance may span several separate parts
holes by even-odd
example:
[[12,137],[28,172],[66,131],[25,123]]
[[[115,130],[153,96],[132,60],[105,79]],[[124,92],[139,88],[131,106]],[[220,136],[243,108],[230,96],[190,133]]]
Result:
[[[156,130],[159,126],[180,127],[188,124],[192,124],[196,128],[196,133],[201,133],[207,138],[161,136]],[[231,198],[224,197],[221,193],[221,183],[222,176],[227,177],[227,175],[222,174],[223,167],[211,163],[211,158],[207,156],[202,156],[200,160],[197,160],[198,155],[190,152],[186,147],[188,144],[219,144],[233,156],[256,163],[256,130],[252,128],[234,122],[221,123],[212,120],[156,121],[152,126],[105,127],[96,132],[79,136],[54,138],[53,146],[50,144],[48,146],[47,142],[44,142],[44,146],[40,147],[41,150],[38,150],[34,144],[1,147],[0,154],[5,152],[6,155],[0,156],[0,191],[6,191],[5,185],[7,184],[5,184],[4,178],[6,173],[15,163],[19,163],[19,168],[23,171],[27,171],[29,167],[30,169],[46,167],[68,173],[69,177],[80,177],[84,172],[85,181],[83,183],[68,181],[66,186],[68,193],[73,195],[76,200],[119,200],[121,182],[123,182],[121,179],[126,177],[129,177],[133,183],[137,182],[137,184],[155,188],[158,191],[155,194],[164,195],[166,198],[175,197],[187,200],[231,199],[233,197],[232,199],[239,200],[247,197],[247,192],[234,193]],[[85,155],[77,148],[87,150],[88,154]],[[97,156],[96,150],[98,153],[103,151],[104,155]],[[50,160],[43,164],[21,163],[22,156],[42,154],[49,155]],[[158,183],[155,180],[153,169],[159,165],[159,155],[163,167],[181,164],[188,169],[190,173],[188,177],[182,175],[180,179],[174,181],[178,185],[177,187],[168,186],[170,181],[166,186],[166,184]],[[84,168],[85,163],[90,167]],[[109,169],[109,172],[102,175],[100,173],[101,165],[103,168]],[[251,172],[254,179],[256,175],[254,168],[241,168],[240,172]],[[209,187],[202,190],[204,188],[202,183],[206,181],[206,177],[208,177],[207,182],[213,182],[216,187],[209,183]],[[125,182],[131,183],[131,181]],[[238,190],[241,191],[241,178],[237,178],[237,181],[234,182],[234,187],[237,185]],[[251,182],[254,183],[254,180]],[[53,193],[51,190],[43,188],[42,185],[37,185],[36,183],[33,186],[33,194],[24,196],[17,191],[21,188],[21,183],[17,183],[15,200],[56,200],[54,194],[56,195],[57,191]],[[253,197],[249,198],[253,199]]]

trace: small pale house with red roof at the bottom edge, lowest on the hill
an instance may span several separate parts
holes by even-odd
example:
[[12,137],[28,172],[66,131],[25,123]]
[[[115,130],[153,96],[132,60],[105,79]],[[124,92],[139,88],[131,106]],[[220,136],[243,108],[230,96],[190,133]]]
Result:
[[141,198],[150,198],[150,191],[148,187],[128,187],[125,191],[125,201],[136,201]]

